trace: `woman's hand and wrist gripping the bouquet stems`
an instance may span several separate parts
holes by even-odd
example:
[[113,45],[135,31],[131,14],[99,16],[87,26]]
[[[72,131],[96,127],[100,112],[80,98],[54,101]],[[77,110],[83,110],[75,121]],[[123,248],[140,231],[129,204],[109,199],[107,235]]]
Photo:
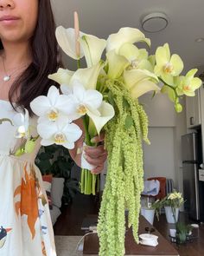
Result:
[[[80,139],[75,142],[75,147],[71,150],[69,150],[69,153],[71,157],[73,158],[73,161],[80,167],[81,166],[81,153],[83,148],[83,142],[85,139],[85,131],[83,127],[83,121],[81,119],[78,119],[74,121],[81,130],[83,131],[83,134],[81,135]],[[104,135],[96,136],[95,142],[104,141]],[[104,145],[99,145],[96,148],[90,148],[85,147],[85,155],[86,155],[86,161],[88,161],[90,164],[94,165],[95,168],[92,169],[92,174],[99,174],[104,169],[104,163],[107,158],[107,152],[104,149]],[[79,152],[80,151],[80,152]]]

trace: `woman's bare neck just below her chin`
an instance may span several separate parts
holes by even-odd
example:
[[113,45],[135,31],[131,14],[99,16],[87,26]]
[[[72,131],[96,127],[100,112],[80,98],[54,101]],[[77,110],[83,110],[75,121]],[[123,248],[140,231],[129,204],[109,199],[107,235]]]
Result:
[[29,43],[3,43],[3,57],[6,69],[15,69],[22,64],[31,62]]

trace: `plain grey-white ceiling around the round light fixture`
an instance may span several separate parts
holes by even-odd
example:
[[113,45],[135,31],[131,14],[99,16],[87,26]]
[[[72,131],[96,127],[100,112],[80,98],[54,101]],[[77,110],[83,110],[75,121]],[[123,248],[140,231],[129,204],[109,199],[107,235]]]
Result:
[[[171,52],[182,57],[185,71],[194,67],[204,70],[204,0],[51,0],[57,25],[73,27],[73,11],[80,18],[80,30],[107,38],[121,27],[139,30],[141,19],[151,12],[163,12],[169,17],[169,25],[156,33],[144,32],[151,40],[150,53],[168,42]],[[73,61],[66,59],[67,68],[73,69]]]

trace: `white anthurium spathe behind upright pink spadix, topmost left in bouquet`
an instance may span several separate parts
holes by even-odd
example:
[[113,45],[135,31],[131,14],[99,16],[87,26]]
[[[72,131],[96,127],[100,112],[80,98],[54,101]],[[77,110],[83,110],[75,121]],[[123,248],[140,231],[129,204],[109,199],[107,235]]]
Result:
[[[74,60],[79,60],[84,56],[83,50],[80,48],[80,56],[76,54],[76,44],[75,44],[75,30],[73,28],[65,29],[60,26],[57,27],[55,31],[57,43],[60,45],[61,49]],[[80,37],[86,35],[80,32]]]

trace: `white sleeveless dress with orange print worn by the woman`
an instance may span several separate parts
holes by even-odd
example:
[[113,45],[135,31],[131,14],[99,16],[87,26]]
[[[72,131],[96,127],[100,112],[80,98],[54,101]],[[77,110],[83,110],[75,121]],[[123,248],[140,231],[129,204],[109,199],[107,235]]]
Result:
[[[10,102],[0,100],[0,256],[56,256],[48,198],[35,166],[40,139],[32,153],[15,156],[22,143],[15,115]],[[37,135],[36,117],[29,125]]]

